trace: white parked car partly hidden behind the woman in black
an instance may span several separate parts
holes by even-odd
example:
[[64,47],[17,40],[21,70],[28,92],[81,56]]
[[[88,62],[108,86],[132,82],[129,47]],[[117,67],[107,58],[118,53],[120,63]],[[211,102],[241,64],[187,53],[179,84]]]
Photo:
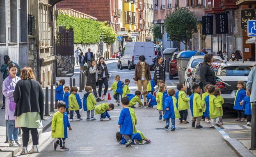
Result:
[[[184,85],[186,87],[186,93],[189,94],[189,78],[192,74],[192,71],[194,69],[194,67],[197,65],[198,62],[203,62],[203,58],[204,58],[204,55],[195,55],[195,56],[192,56],[187,64],[187,68],[185,70],[185,76],[184,76]],[[219,57],[219,56],[216,56],[214,55],[213,56],[213,59],[214,61],[213,62],[222,62],[222,58]],[[188,73],[187,72],[190,72],[190,75],[187,75]]]

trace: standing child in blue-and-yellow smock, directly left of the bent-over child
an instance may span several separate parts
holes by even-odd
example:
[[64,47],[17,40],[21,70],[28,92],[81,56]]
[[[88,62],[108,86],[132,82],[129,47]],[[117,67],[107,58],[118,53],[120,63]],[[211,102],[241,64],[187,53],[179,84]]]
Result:
[[83,105],[84,105],[84,111],[87,111],[87,119],[85,119],[86,121],[90,120],[90,111],[91,111],[91,120],[96,120],[96,118],[94,118],[94,105],[96,105],[96,101],[94,99],[94,96],[92,95],[92,87],[91,86],[85,86],[85,91],[87,93],[85,93],[84,95],[84,101],[83,101]]

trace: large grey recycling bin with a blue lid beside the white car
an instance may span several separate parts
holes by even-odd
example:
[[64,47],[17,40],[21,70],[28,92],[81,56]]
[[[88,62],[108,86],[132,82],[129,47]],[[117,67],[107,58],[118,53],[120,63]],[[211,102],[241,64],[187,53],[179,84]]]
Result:
[[[196,53],[197,51],[182,51],[177,55],[178,79],[180,83],[184,83],[187,64],[190,58]],[[200,55],[204,55],[204,53],[201,53]]]

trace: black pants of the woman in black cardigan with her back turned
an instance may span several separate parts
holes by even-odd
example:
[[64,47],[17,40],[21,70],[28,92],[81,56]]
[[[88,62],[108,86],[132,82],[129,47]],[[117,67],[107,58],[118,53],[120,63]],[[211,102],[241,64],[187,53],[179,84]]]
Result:
[[22,144],[23,147],[27,147],[28,141],[29,141],[29,132],[31,132],[32,135],[32,142],[33,145],[38,145],[39,135],[37,132],[37,128],[21,128],[22,130]]

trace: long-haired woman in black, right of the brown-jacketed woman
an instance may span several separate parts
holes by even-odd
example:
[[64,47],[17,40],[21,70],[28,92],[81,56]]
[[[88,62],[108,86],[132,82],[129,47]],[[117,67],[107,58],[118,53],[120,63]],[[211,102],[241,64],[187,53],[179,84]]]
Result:
[[157,83],[158,80],[162,80],[165,82],[165,65],[163,64],[163,58],[161,56],[157,57],[154,69],[155,84]]

